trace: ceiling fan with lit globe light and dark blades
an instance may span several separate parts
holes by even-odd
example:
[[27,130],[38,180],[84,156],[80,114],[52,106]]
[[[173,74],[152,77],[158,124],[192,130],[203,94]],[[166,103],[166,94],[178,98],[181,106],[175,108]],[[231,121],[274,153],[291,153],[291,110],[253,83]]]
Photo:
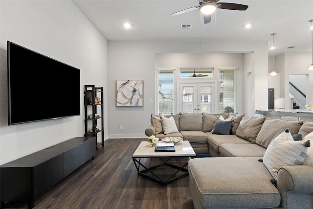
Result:
[[243,11],[248,8],[247,5],[238,4],[238,3],[218,3],[220,0],[198,0],[199,6],[193,6],[187,9],[180,10],[178,12],[174,12],[171,15],[180,15],[186,12],[190,12],[196,9],[200,9],[201,13],[203,13],[204,23],[211,22],[211,15],[215,10],[218,9],[229,9],[229,10],[239,10]]

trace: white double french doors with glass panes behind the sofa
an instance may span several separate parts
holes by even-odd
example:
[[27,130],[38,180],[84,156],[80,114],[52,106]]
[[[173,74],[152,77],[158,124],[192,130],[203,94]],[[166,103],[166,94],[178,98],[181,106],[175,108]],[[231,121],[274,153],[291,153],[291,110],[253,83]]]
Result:
[[215,113],[215,83],[179,83],[179,112]]

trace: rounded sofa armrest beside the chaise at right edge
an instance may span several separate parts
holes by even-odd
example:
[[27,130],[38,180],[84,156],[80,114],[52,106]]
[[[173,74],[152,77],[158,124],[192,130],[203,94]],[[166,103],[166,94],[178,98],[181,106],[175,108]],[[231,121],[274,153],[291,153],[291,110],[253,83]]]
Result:
[[281,191],[313,193],[313,167],[283,166],[277,172],[277,188]]

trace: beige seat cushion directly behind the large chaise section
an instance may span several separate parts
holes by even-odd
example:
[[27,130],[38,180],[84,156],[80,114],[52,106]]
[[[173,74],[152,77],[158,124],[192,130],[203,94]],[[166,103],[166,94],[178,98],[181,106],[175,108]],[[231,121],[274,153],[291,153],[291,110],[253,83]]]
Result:
[[266,148],[257,144],[221,144],[221,157],[263,157]]

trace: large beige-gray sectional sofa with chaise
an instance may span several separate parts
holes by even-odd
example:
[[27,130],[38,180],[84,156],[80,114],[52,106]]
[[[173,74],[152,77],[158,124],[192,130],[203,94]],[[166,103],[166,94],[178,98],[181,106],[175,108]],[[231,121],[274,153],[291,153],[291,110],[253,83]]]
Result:
[[[231,127],[228,133],[214,134],[220,123],[226,124],[220,122],[220,116],[222,121],[231,118]],[[288,128],[294,138],[302,135],[302,139],[313,142],[313,122],[235,114],[180,113],[173,118],[178,132],[164,134],[159,128],[156,130],[162,118],[152,115],[145,134],[158,138],[179,136],[189,140],[197,154],[211,156],[189,161],[189,186],[195,209],[313,209],[313,147],[306,149],[302,165],[279,167],[277,182],[265,163],[260,162],[271,140],[283,129]]]

